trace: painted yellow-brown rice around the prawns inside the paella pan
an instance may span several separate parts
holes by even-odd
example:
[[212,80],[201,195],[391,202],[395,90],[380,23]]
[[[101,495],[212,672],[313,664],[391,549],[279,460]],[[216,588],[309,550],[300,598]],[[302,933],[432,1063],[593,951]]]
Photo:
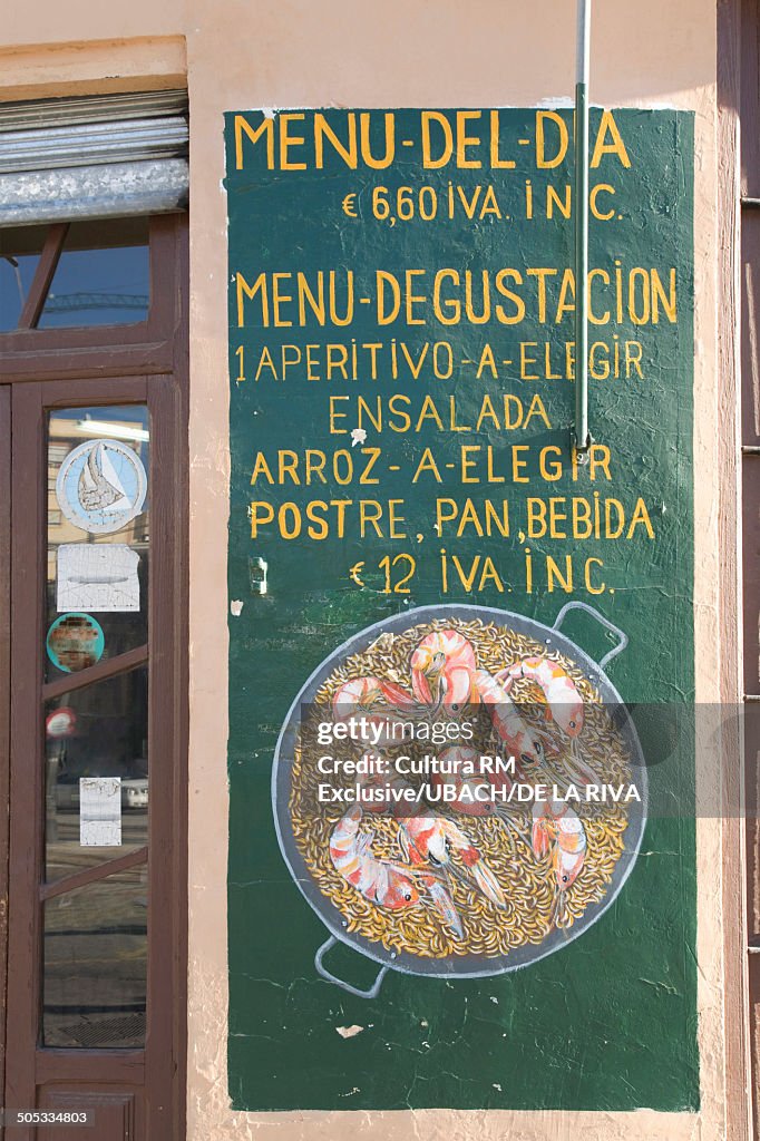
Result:
[[[573,661],[558,650],[548,652],[545,645],[495,623],[479,620],[445,618],[410,626],[398,633],[381,634],[375,642],[358,654],[353,654],[337,666],[317,690],[315,704],[324,706],[324,720],[332,719],[332,698],[343,682],[366,675],[382,678],[395,685],[409,687],[410,658],[426,634],[437,630],[456,630],[471,642],[479,669],[496,673],[532,655],[543,655],[559,663],[572,678],[584,703],[584,725],[580,744],[583,758],[600,782],[612,785],[628,784],[632,779],[631,758],[618,729],[605,709],[598,689],[584,677]],[[552,737],[561,751],[568,747],[561,734],[547,720],[547,707],[541,690],[534,682],[520,678],[511,690],[526,721]],[[437,720],[450,720],[440,714]],[[490,728],[482,727],[471,743],[478,752],[501,752]],[[337,758],[357,759],[356,744],[337,742],[330,746]],[[428,742],[399,745],[389,751],[411,756],[439,753]],[[516,806],[512,811],[517,828],[504,826],[493,816],[463,815],[451,807],[440,806],[454,819],[482,856],[503,891],[504,906],[491,903],[468,880],[459,856],[452,853],[454,872],[447,885],[462,922],[462,936],[456,937],[431,906],[429,897],[420,892],[419,900],[399,911],[381,908],[365,899],[335,869],[330,858],[330,837],[346,811],[346,804],[317,807],[317,787],[325,780],[316,767],[316,751],[301,750],[300,735],[294,751],[290,793],[290,816],[296,844],[323,896],[340,914],[347,933],[358,933],[393,953],[407,953],[421,958],[447,960],[477,955],[484,958],[509,956],[525,945],[540,946],[551,932],[555,922],[556,883],[548,858],[539,858],[531,845],[531,806]],[[353,785],[355,777],[333,777],[333,783]],[[427,777],[409,776],[410,784],[419,785]],[[552,783],[549,775],[532,774],[531,779]],[[624,850],[628,810],[624,803],[573,803],[581,817],[587,836],[583,866],[572,887],[564,893],[563,925],[572,928],[587,908],[601,901],[609,890],[615,865]],[[398,820],[388,814],[367,814],[363,827],[374,833],[372,855],[378,859],[404,863],[399,844]]]

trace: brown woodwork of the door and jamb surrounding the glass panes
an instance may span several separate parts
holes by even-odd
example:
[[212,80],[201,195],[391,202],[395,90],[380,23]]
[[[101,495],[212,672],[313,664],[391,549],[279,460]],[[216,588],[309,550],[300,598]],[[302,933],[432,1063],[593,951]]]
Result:
[[[55,235],[54,235],[55,236]],[[51,238],[52,242],[52,238]],[[55,251],[54,251],[55,252]],[[60,252],[60,243],[57,253]],[[48,258],[46,273],[51,273]],[[3,879],[13,876],[15,909],[10,914],[10,961],[18,962],[24,945],[38,948],[32,987],[22,993],[7,978],[8,916],[0,907],[0,987],[3,1003],[0,1078],[6,1062],[9,1107],[35,1103],[37,1086],[71,1085],[78,1078],[103,1090],[144,1084],[148,1107],[149,1141],[184,1141],[186,1095],[186,979],[187,979],[187,226],[184,217],[156,218],[151,225],[151,315],[142,325],[89,330],[38,331],[27,329],[0,337],[0,431],[7,440],[13,408],[13,467],[8,450],[0,450],[0,535],[18,536],[31,563],[14,566],[9,581],[10,544],[0,541],[0,606],[11,615],[0,623],[0,893]],[[126,333],[126,335],[124,335]],[[52,334],[52,335],[51,335]],[[56,342],[54,348],[52,342]],[[16,383],[11,383],[11,382]],[[152,622],[147,656],[149,670],[149,735],[152,772],[148,856],[149,898],[167,906],[151,908],[148,936],[148,1009],[171,1003],[171,1019],[149,1025],[145,1055],[140,1051],[34,1050],[39,1039],[38,980],[40,944],[38,892],[42,855],[39,784],[10,788],[10,742],[22,748],[41,779],[41,702],[54,687],[42,689],[43,614],[40,576],[45,550],[45,471],[41,454],[45,411],[67,404],[147,403],[152,415]],[[30,446],[32,445],[33,446]],[[9,494],[13,480],[14,495]],[[13,501],[13,518],[10,503]],[[159,605],[160,604],[160,605]],[[30,626],[33,636],[30,634]],[[126,658],[135,658],[127,662]],[[121,666],[136,665],[144,653],[123,655]],[[14,673],[25,671],[34,683],[9,686]],[[94,667],[99,675],[108,664]],[[86,671],[97,680],[91,671]],[[84,672],[81,674],[84,682]],[[38,763],[34,764],[34,758]],[[170,759],[164,775],[164,759]],[[163,763],[162,763],[163,762]],[[161,776],[159,775],[161,774]],[[37,798],[37,799],[35,799]],[[10,832],[26,814],[37,819],[34,858],[15,858],[9,866]],[[11,823],[13,818],[13,823]],[[154,827],[164,822],[161,839]],[[17,830],[16,830],[17,831]],[[155,839],[154,839],[155,834]],[[14,849],[11,848],[11,853]],[[14,860],[14,856],[10,856]],[[87,879],[87,875],[84,875]],[[7,896],[0,895],[7,899]],[[157,937],[157,940],[156,938]],[[6,1011],[8,1013],[6,1030]],[[19,1063],[24,1055],[33,1065]],[[145,1065],[144,1065],[145,1062]],[[167,1099],[167,1092],[170,1098]],[[139,1123],[135,1123],[138,1125]],[[15,1130],[18,1141],[33,1134]]]

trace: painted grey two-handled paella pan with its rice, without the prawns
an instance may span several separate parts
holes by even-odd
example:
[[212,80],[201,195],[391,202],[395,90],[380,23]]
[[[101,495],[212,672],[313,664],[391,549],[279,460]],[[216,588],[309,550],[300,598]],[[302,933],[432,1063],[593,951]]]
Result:
[[[588,613],[616,640],[600,662],[592,661],[560,632],[571,610]],[[435,871],[446,882],[459,913],[458,931],[442,920],[423,889],[414,906],[390,911],[371,903],[341,877],[330,857],[330,841],[349,804],[321,806],[318,814],[312,815],[302,810],[315,768],[301,753],[304,710],[324,709],[320,717],[333,720],[332,703],[340,687],[366,674],[381,674],[394,686],[405,685],[411,689],[410,663],[415,648],[440,631],[454,631],[458,640],[466,639],[472,646],[478,670],[491,674],[539,657],[556,663],[558,672],[571,678],[582,697],[584,723],[577,739],[569,742],[557,719],[551,718],[550,702],[535,681],[520,677],[515,683],[511,696],[518,710],[548,743],[555,743],[550,746],[551,761],[545,771],[520,775],[520,780],[541,782],[548,787],[558,784],[564,792],[568,780],[563,785],[561,756],[567,755],[571,772],[576,771],[577,766],[569,759],[581,756],[588,762],[587,771],[600,783],[616,786],[629,780],[637,788],[639,799],[625,803],[568,804],[568,818],[582,820],[584,858],[577,879],[573,879],[572,885],[563,892],[566,917],[561,923],[556,921],[558,872],[557,861],[552,863],[551,858],[560,841],[553,833],[553,848],[550,843],[548,850],[536,852],[532,842],[535,817],[532,818],[529,803],[517,804],[509,811],[499,809],[495,816],[487,818],[458,812],[456,806],[431,807],[434,815],[445,815],[471,843],[487,875],[495,876],[504,900],[496,906],[488,899],[470,874],[471,869],[460,863],[461,853],[452,850],[447,866],[438,866]],[[612,905],[636,863],[647,812],[641,746],[622,698],[604,672],[626,644],[628,638],[621,630],[580,601],[566,604],[553,626],[491,607],[425,606],[367,626],[338,647],[314,671],[293,701],[281,730],[272,795],[285,863],[299,890],[330,932],[329,939],[315,948],[315,966],[323,978],[353,994],[371,997],[379,992],[388,969],[443,978],[501,974],[560,950]],[[448,720],[445,714],[442,717]],[[507,755],[509,747],[500,741],[496,729],[494,720],[492,739],[482,741],[478,748],[493,753],[501,745],[502,755]],[[354,743],[348,742],[348,747],[361,755],[361,747]],[[429,743],[425,748],[438,755],[443,752]],[[406,752],[410,751],[407,745]],[[355,779],[346,783],[353,784]],[[420,777],[418,783],[420,779],[428,778]],[[366,852],[379,861],[404,866],[407,849],[393,814],[385,812],[378,818],[365,810],[359,828]],[[381,964],[372,988],[357,989],[325,966],[325,955],[335,941]]]

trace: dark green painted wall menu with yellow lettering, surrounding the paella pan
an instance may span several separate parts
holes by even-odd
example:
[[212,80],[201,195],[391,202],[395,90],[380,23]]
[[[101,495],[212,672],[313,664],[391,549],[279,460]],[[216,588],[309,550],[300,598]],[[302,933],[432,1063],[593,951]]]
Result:
[[[591,112],[585,466],[571,111],[240,112],[225,141],[233,1108],[694,1110],[687,814],[650,815],[557,953],[359,997],[315,968],[329,932],[272,796],[313,671],[418,607],[551,628],[584,602],[628,637],[624,702],[693,699],[693,118]],[[596,662],[616,645],[581,608],[566,632]],[[338,941],[329,970],[369,990],[378,963]]]

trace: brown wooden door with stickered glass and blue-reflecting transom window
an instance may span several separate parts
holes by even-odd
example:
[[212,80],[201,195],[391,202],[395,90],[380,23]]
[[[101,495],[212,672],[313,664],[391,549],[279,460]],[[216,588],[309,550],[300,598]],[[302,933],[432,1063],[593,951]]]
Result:
[[[10,252],[17,327],[0,332],[5,1106],[56,1115],[27,1115],[13,1131],[24,1141],[179,1141],[186,228],[177,217],[80,229],[66,278],[70,236],[6,235],[24,252]],[[78,261],[92,250],[112,251],[118,284],[108,257]]]

